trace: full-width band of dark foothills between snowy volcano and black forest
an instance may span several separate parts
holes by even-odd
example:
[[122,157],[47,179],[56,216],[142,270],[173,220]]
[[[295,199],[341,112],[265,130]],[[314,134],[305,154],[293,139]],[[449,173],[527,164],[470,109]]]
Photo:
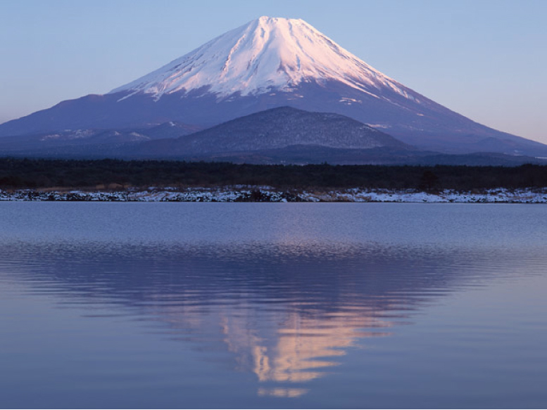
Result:
[[[175,124],[145,129],[165,135]],[[92,132],[93,130],[88,130]],[[417,150],[394,137],[344,115],[272,108],[230,120],[179,138],[151,139],[136,132],[103,131],[95,137],[27,144],[9,151],[13,157],[118,158],[125,160],[221,161],[249,164],[496,165],[545,164],[525,155],[502,153],[441,154]],[[136,136],[134,136],[136,134]],[[56,134],[54,134],[56,135]],[[68,133],[68,136],[73,135]],[[32,136],[36,137],[36,136]],[[7,140],[17,137],[5,138]],[[22,137],[27,139],[26,136]],[[132,139],[131,139],[132,138]],[[0,139],[0,152],[6,152]],[[87,140],[96,143],[85,142]]]

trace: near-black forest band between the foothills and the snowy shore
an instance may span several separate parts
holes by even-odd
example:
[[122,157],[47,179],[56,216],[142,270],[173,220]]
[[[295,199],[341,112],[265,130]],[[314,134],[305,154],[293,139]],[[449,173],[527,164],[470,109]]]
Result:
[[455,189],[547,187],[547,166],[237,165],[227,162],[0,159],[0,189],[149,186]]

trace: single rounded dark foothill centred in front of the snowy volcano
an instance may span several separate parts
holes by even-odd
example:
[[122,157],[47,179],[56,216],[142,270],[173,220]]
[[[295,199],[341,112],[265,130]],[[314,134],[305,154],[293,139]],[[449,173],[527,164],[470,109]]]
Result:
[[296,108],[265,110],[175,140],[150,141],[128,152],[139,156],[213,155],[291,146],[406,150],[406,144],[361,122]]

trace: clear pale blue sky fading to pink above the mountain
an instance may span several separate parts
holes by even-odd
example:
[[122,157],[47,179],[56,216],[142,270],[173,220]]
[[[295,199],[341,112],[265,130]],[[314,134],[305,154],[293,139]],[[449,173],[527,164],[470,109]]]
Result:
[[261,15],[302,18],[437,103],[547,143],[547,0],[0,0],[0,123],[105,94]]

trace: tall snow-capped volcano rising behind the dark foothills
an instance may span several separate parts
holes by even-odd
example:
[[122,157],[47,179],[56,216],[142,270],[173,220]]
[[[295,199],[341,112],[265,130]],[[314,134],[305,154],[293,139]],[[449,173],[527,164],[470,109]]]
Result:
[[0,136],[59,129],[212,127],[289,105],[337,113],[422,150],[547,156],[547,146],[454,113],[387,77],[303,20],[261,17],[105,95],[0,125]]

